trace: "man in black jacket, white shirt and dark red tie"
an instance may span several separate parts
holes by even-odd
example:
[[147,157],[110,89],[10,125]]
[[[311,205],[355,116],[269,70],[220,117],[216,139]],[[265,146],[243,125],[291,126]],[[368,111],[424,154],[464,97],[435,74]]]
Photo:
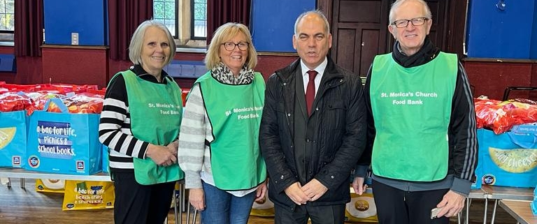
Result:
[[322,13],[303,13],[294,27],[300,59],[266,84],[259,142],[268,195],[275,223],[343,223],[350,172],[365,147],[361,82],[327,57],[332,39]]

